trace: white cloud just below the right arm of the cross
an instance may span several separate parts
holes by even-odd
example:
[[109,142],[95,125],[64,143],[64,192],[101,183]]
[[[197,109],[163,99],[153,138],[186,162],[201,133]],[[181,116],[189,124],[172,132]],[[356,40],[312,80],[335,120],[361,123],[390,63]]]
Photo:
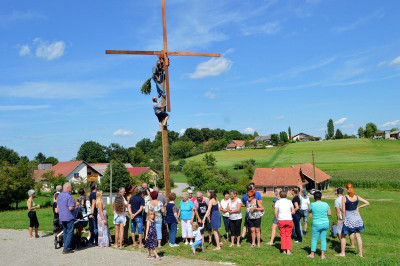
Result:
[[224,57],[211,58],[210,60],[200,63],[196,67],[196,71],[189,74],[192,79],[205,78],[210,76],[219,76],[231,69],[233,62]]

